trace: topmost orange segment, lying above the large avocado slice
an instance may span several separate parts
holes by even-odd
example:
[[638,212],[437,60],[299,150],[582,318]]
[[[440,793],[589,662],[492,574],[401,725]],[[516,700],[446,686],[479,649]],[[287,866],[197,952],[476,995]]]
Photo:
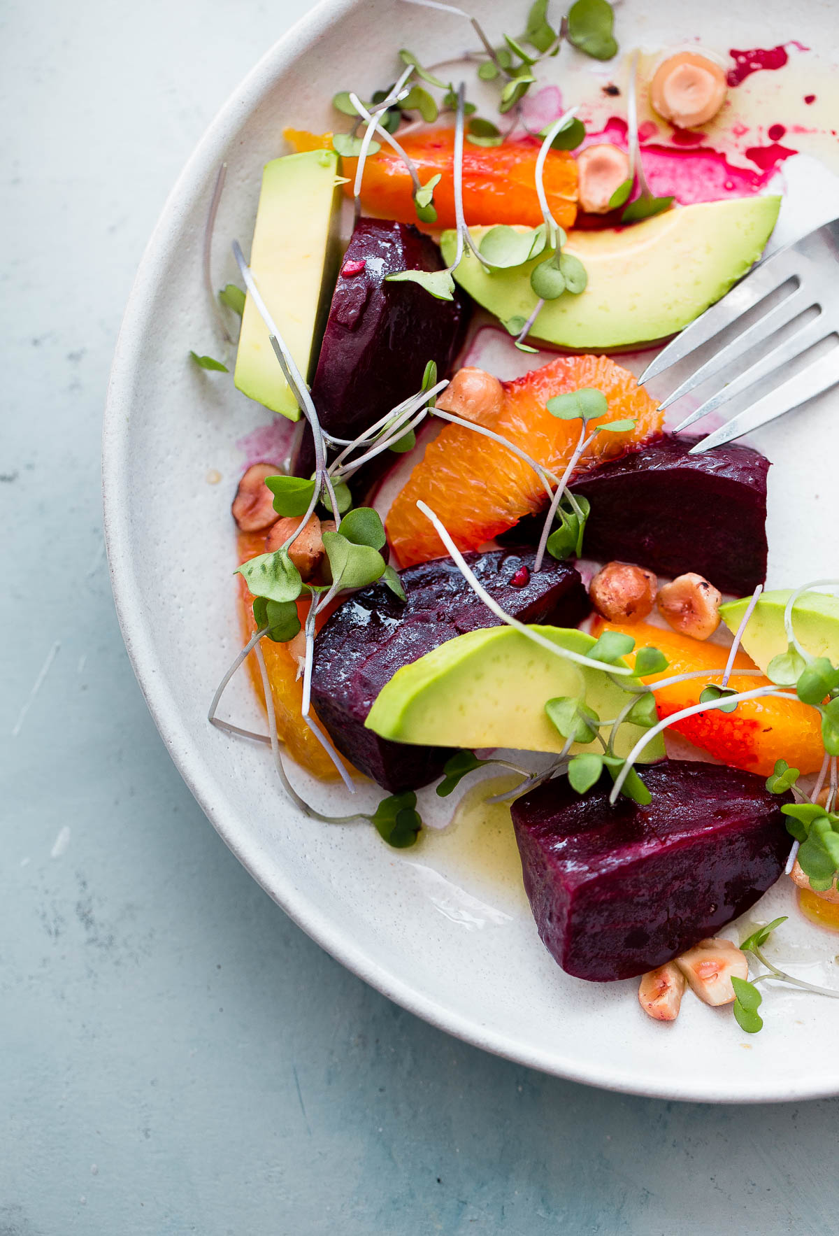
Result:
[[[295,150],[319,150],[331,143],[331,133],[304,133],[287,129],[287,141]],[[314,143],[314,145],[313,145]],[[416,166],[423,184],[440,173],[434,190],[437,211],[435,227],[455,226],[453,129],[426,129],[399,137],[399,143]],[[463,146],[463,214],[467,224],[526,224],[536,227],[542,213],[536,195],[536,158],[539,142],[531,138],[504,142],[502,146]],[[352,197],[352,182],[358,161],[342,158],[344,185]],[[561,227],[571,227],[577,218],[577,163],[567,151],[549,151],[542,177],[547,204]],[[410,174],[389,146],[365,162],[361,187],[365,210],[404,224],[416,222],[414,184]]]

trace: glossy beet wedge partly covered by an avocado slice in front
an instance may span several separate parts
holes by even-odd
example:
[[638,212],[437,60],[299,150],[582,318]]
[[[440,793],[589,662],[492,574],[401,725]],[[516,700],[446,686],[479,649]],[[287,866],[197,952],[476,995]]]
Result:
[[[576,627],[588,613],[580,575],[563,562],[550,561],[533,575],[531,550],[465,556],[491,596],[521,622]],[[455,635],[497,625],[451,559],[408,567],[400,577],[405,602],[376,583],[335,611],[315,640],[311,674],[311,701],[335,745],[392,794],[428,785],[451,750],[393,743],[365,729],[373,700],[403,665]]]

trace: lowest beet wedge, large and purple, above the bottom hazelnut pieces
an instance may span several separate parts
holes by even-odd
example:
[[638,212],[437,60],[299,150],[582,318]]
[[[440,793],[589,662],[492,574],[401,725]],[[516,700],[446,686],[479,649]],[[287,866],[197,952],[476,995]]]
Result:
[[664,965],[753,906],[790,853],[792,796],[754,772],[665,760],[641,775],[647,807],[610,806],[605,777],[583,797],[560,777],[513,803],[539,934],[578,979]]

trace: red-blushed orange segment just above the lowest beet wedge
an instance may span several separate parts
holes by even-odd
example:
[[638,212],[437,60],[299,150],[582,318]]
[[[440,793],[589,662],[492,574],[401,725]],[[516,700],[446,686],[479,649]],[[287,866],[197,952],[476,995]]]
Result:
[[[644,679],[649,684],[675,674],[688,674],[691,670],[722,670],[728,658],[727,649],[719,644],[691,639],[650,623],[622,625],[598,618],[592,634],[602,630],[619,630],[631,635],[636,648],[661,649],[670,666],[664,674]],[[739,651],[734,667],[750,670],[755,666],[745,653]],[[714,681],[718,682],[719,679]],[[704,679],[692,679],[657,691],[656,705],[661,719],[699,703],[699,695],[706,685]],[[754,687],[769,686],[769,679],[762,675],[733,674],[729,686],[736,691],[751,691]],[[717,708],[701,712],[677,722],[673,729],[718,760],[749,772],[760,772],[761,776],[769,776],[776,760],[786,760],[802,772],[816,772],[824,759],[818,713],[797,700],[746,700],[738,706],[736,712],[720,712]]]

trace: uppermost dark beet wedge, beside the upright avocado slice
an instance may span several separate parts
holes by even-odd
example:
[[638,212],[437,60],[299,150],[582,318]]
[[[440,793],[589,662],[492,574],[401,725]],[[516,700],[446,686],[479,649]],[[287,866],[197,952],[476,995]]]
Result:
[[[468,298],[435,300],[415,283],[386,283],[398,271],[440,271],[440,250],[411,224],[360,219],[344,256],[318,368],[311,384],[321,426],[336,438],[357,438],[390,408],[419,391],[428,361],[440,376],[451,368],[466,321]],[[353,480],[362,492],[393,461],[387,451]],[[311,434],[298,447],[298,476],[314,471]]]

